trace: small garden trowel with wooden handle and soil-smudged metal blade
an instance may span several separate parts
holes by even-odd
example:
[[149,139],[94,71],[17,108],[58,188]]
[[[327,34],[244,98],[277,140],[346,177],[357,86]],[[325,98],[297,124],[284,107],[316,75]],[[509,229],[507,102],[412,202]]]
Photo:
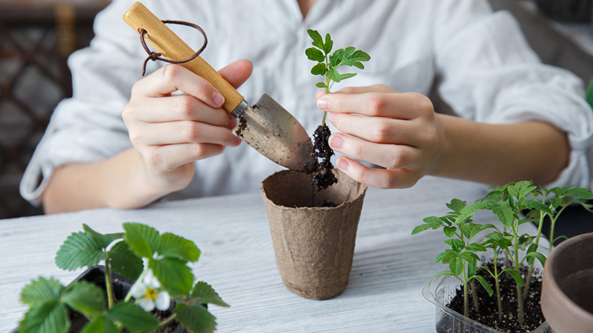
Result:
[[[145,40],[167,59],[186,59],[195,53],[140,2],[126,11],[123,20],[138,33],[145,30]],[[272,97],[264,93],[249,107],[243,96],[202,57],[197,56],[181,66],[207,79],[225,97],[222,108],[239,120],[235,135],[283,167],[311,171],[313,143],[307,131]]]

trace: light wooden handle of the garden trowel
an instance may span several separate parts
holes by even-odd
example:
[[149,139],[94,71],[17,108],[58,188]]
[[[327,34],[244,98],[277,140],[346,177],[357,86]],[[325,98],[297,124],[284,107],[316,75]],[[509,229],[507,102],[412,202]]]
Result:
[[[123,15],[123,20],[138,33],[141,33],[142,29],[146,30],[146,41],[167,59],[187,59],[195,53],[191,47],[140,2],[135,2],[130,9],[127,9],[126,14]],[[181,66],[202,76],[218,89],[225,97],[222,108],[227,110],[228,113],[235,110],[237,105],[243,101],[243,96],[202,57],[197,56],[189,62],[182,63]]]

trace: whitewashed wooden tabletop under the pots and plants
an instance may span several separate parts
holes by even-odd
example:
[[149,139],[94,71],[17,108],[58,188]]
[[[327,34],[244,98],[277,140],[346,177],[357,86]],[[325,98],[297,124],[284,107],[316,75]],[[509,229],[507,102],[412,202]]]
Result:
[[14,329],[23,316],[19,295],[30,280],[55,276],[66,284],[83,271],[54,264],[70,233],[82,230],[82,223],[101,233],[121,232],[129,221],[196,242],[202,250],[193,265],[196,278],[231,305],[210,307],[218,332],[434,332],[435,307],[421,290],[442,270],[433,258],[444,235],[410,233],[424,217],[447,213],[451,198],[473,203],[486,193],[485,185],[433,177],[407,190],[369,188],[348,287],[322,301],[303,299],[283,285],[260,193],[0,220],[0,332]]

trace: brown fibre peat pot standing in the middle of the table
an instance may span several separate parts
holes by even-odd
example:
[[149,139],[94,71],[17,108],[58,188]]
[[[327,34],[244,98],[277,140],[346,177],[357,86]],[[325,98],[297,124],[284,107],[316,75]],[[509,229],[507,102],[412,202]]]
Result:
[[311,175],[290,170],[262,182],[278,271],[291,292],[308,299],[342,293],[352,268],[366,185],[334,173],[337,184],[322,191]]

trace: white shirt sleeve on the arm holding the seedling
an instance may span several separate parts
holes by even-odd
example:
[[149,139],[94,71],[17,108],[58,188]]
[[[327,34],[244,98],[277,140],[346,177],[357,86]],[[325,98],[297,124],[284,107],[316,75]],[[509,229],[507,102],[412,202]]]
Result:
[[[482,1],[468,2],[472,4],[442,8],[441,24],[436,25],[435,61],[442,100],[458,116],[483,123],[540,120],[554,124],[568,133],[570,162],[546,185],[593,186],[593,112],[585,101],[582,80],[541,63],[511,14],[492,13],[479,4]],[[451,21],[455,23],[447,23]]]

